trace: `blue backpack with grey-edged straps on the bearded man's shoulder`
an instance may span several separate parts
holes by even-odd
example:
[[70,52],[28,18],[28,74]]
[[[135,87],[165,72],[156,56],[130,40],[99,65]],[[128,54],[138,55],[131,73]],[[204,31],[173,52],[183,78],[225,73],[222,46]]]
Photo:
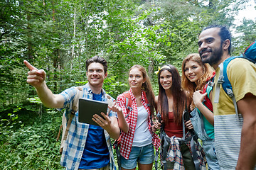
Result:
[[246,60],[249,60],[250,62],[253,62],[254,64],[256,63],[256,41],[252,42],[249,47],[245,50],[244,54],[240,56],[233,56],[233,57],[228,57],[223,63],[220,63],[218,67],[220,67],[220,76],[218,77],[218,81],[216,84],[216,89],[215,89],[215,97],[214,97],[214,103],[218,103],[219,98],[220,98],[220,84],[223,87],[223,90],[225,91],[228,96],[233,101],[233,104],[235,106],[235,114],[237,115],[238,118],[238,106],[235,101],[235,96],[233,93],[232,86],[230,84],[230,81],[228,79],[228,74],[227,74],[227,67],[230,61],[234,60],[235,58],[244,58]]

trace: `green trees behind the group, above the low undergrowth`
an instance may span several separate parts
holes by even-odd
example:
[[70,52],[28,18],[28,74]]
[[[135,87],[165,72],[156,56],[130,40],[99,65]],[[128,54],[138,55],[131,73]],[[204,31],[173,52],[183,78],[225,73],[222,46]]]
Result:
[[53,93],[85,82],[85,60],[93,55],[107,59],[112,83],[105,89],[114,87],[114,96],[127,90],[119,85],[127,84],[134,64],[146,67],[156,86],[153,73],[159,65],[174,64],[181,71],[183,57],[197,52],[201,28],[232,26],[245,1],[3,1],[0,103],[35,96],[26,85],[24,59],[46,70]]

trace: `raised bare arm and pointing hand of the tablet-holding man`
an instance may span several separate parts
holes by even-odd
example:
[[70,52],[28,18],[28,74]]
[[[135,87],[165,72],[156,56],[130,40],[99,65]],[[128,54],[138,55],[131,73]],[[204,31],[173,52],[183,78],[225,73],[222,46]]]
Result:
[[24,64],[30,71],[28,72],[27,82],[36,88],[38,97],[42,103],[48,108],[62,108],[64,104],[63,96],[53,94],[46,85],[46,72],[43,69],[36,69],[29,62],[24,60]]

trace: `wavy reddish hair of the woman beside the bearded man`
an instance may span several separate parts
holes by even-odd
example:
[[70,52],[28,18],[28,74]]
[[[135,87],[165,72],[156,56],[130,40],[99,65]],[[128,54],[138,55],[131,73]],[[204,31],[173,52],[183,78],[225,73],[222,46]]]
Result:
[[[186,62],[188,62],[188,61],[197,62],[199,64],[199,66],[203,68],[203,74],[198,79],[197,84],[195,82],[189,81],[185,75],[185,66],[186,66]],[[188,96],[190,98],[193,98],[194,91],[203,90],[203,86],[205,86],[207,84],[207,82],[210,80],[210,78],[213,77],[213,74],[214,74],[214,69],[212,67],[210,67],[210,64],[203,63],[201,60],[201,57],[200,57],[200,55],[198,55],[198,53],[192,53],[190,55],[187,55],[187,57],[183,60],[181,67],[182,67],[181,86],[184,91],[188,92]],[[192,100],[191,104],[194,108],[195,105],[193,103],[193,100]]]

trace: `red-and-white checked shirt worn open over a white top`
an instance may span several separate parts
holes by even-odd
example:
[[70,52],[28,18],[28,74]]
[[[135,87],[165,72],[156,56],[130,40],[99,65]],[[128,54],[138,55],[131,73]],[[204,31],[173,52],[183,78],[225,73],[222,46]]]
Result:
[[[119,96],[117,96],[117,104],[122,108],[122,112],[124,116],[128,115],[126,120],[129,125],[129,131],[127,133],[121,132],[121,142],[120,142],[120,153],[125,159],[129,159],[129,154],[131,153],[131,150],[132,150],[132,142],[134,138],[134,132],[135,132],[137,117],[138,117],[138,108],[137,108],[136,98],[132,94],[131,89],[129,89],[128,93],[132,98],[132,111],[129,113],[129,115],[126,108],[126,98],[124,94],[120,94]],[[148,117],[149,132],[151,132],[151,135],[153,136],[152,142],[156,150],[158,150],[160,147],[160,138],[151,130],[150,109],[149,109],[148,103],[146,103],[145,98],[146,98],[146,94],[144,91],[142,91],[142,105],[144,106],[144,108],[146,108],[146,111],[149,115]]]

